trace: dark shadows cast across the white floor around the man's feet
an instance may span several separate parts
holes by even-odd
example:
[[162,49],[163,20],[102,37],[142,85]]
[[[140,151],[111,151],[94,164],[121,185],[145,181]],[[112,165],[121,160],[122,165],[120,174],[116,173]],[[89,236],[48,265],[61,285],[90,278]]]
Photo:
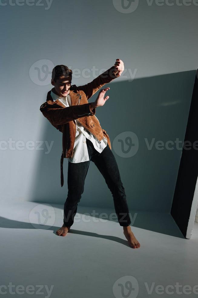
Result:
[[[43,203],[43,205],[45,205],[45,203]],[[46,205],[46,206],[48,206],[48,205]],[[61,208],[61,206],[59,204],[50,204],[50,206],[52,206],[54,208],[54,210],[59,209],[63,212],[63,209]],[[55,213],[57,213],[57,211]],[[83,221],[84,216],[89,216],[87,218],[89,218],[90,222],[94,218],[94,220],[93,220],[94,223],[97,220],[98,220],[98,222],[100,222],[100,221],[104,222],[104,215],[102,216],[102,214],[105,214],[106,215],[105,221],[106,221],[107,225],[108,225],[108,221],[113,221],[113,222],[117,223],[116,228],[117,227],[122,228],[119,226],[115,211],[112,209],[104,210],[104,209],[96,208],[96,207],[90,208],[90,207],[85,207],[85,206],[78,206],[77,213],[80,216],[80,219],[82,221]],[[94,216],[92,216],[93,214],[94,214]],[[112,217],[112,215],[114,215],[114,217]],[[58,217],[59,217],[59,215],[58,215]],[[61,216],[61,218],[62,218],[62,216]],[[86,222],[87,222],[87,218],[86,218]],[[114,219],[112,220],[112,218],[114,218]],[[130,211],[130,218],[131,218],[130,226],[131,226],[132,231],[133,231],[133,227],[137,227],[140,229],[149,230],[149,231],[185,239],[183,234],[179,230],[177,224],[173,220],[172,216],[168,213],[154,213],[154,212],[152,213],[152,212],[139,212],[139,211],[132,212],[132,211]],[[78,217],[78,220],[79,220],[79,217]],[[74,223],[75,223],[75,218],[74,218]],[[87,224],[91,224],[91,223],[87,223]],[[18,221],[18,220],[10,220],[5,217],[0,217],[0,227],[15,228],[15,229],[52,230],[54,232],[54,234],[56,234],[56,230],[58,228],[60,228],[60,226],[55,227],[55,226],[48,226],[48,225],[35,224],[35,223],[31,224],[31,223],[26,223],[23,221]],[[87,232],[87,231],[73,230],[72,228],[71,228],[70,232],[74,233],[74,234],[81,234],[81,235],[83,234],[83,235],[87,235],[87,236],[91,236],[91,237],[101,237],[101,238],[109,239],[112,241],[117,241],[119,243],[128,245],[127,241],[123,241],[119,237],[114,237],[111,235],[107,236],[107,235],[101,235],[101,234]]]

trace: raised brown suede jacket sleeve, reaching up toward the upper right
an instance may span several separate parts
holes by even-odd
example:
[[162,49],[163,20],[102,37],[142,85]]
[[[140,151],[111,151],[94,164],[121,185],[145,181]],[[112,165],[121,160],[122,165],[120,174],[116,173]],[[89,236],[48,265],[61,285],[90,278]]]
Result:
[[78,86],[78,90],[84,91],[89,99],[92,95],[94,95],[102,86],[107,83],[110,83],[113,79],[118,78],[119,75],[116,74],[117,70],[112,66],[111,68],[107,69],[107,71],[103,72],[97,78],[95,78],[91,83],[86,85]]

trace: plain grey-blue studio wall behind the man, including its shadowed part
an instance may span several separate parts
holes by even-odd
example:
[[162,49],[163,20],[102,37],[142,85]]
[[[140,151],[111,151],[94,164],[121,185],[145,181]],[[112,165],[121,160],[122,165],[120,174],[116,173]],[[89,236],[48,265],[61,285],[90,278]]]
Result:
[[[62,134],[39,111],[52,88],[51,70],[57,64],[77,69],[72,84],[82,85],[120,58],[125,72],[107,85],[110,98],[96,116],[110,136],[130,209],[170,211],[181,150],[175,144],[158,150],[155,142],[184,140],[197,68],[198,6],[180,2],[135,1],[131,12],[119,0],[1,4],[2,198],[64,203],[68,161],[61,188]],[[124,142],[131,133],[131,152],[137,152],[128,157]],[[145,139],[150,144],[152,138],[148,150]],[[49,153],[39,141],[53,142]],[[79,204],[113,206],[93,163]]]

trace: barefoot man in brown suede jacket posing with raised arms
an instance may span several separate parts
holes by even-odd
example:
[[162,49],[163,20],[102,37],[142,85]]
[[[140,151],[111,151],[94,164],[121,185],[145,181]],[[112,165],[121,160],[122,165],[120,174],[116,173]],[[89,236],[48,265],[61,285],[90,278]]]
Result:
[[123,226],[130,247],[139,248],[140,243],[130,228],[126,194],[116,159],[111,151],[110,138],[95,116],[96,108],[104,106],[109,99],[105,94],[110,88],[102,89],[95,102],[88,103],[92,95],[119,77],[123,71],[123,61],[116,59],[113,67],[91,83],[77,87],[71,85],[72,70],[65,65],[57,65],[52,70],[51,84],[54,88],[48,92],[47,101],[41,105],[40,111],[63,134],[61,186],[64,183],[63,159],[68,158],[68,197],[64,203],[63,226],[56,234],[66,236],[74,223],[89,163],[93,161],[111,190],[117,218],[120,226]]

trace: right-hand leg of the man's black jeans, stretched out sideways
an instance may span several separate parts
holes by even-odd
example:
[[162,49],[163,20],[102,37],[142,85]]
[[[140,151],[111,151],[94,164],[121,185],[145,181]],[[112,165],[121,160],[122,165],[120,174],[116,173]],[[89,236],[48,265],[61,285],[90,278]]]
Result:
[[129,209],[127,205],[124,186],[120,178],[117,161],[113,152],[107,147],[101,153],[95,154],[91,161],[97,166],[98,170],[103,175],[108,188],[111,190],[114,207],[120,226],[129,226],[131,224]]

